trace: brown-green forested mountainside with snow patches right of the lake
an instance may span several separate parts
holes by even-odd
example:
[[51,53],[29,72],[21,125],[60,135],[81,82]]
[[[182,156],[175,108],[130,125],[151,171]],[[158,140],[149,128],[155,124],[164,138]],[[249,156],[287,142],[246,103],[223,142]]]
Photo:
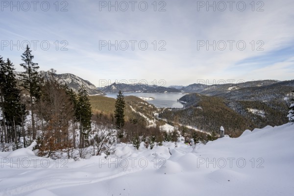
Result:
[[294,96],[294,80],[245,82],[238,86],[194,84],[189,88],[199,93],[183,96],[179,101],[184,108],[166,109],[159,118],[210,132],[224,126],[232,136],[239,136],[244,129],[287,123],[290,98]]

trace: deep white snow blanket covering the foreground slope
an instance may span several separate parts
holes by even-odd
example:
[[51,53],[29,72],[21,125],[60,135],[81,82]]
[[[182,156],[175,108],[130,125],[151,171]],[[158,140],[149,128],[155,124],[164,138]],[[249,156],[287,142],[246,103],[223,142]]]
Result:
[[0,196],[293,196],[293,130],[267,126],[196,147],[119,144],[107,158],[47,159],[47,168],[42,157],[21,164],[36,158],[28,148],[0,152]]

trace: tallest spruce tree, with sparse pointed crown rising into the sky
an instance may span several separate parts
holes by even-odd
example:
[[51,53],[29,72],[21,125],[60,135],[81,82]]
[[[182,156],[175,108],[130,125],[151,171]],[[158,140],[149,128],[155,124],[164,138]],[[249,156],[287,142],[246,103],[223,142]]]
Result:
[[31,119],[32,119],[32,133],[33,140],[36,139],[36,128],[35,128],[35,117],[34,117],[34,105],[37,100],[40,98],[40,76],[38,74],[38,63],[33,63],[34,56],[31,54],[31,50],[28,45],[26,46],[25,52],[22,55],[22,61],[20,65],[25,69],[25,72],[21,74],[22,76],[22,85],[29,94],[29,104],[31,110]]

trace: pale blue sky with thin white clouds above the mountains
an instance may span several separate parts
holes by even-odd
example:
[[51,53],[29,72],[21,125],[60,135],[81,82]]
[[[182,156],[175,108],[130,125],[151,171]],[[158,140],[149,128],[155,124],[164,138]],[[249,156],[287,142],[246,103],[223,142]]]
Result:
[[0,1],[0,56],[97,87],[294,79],[294,1]]

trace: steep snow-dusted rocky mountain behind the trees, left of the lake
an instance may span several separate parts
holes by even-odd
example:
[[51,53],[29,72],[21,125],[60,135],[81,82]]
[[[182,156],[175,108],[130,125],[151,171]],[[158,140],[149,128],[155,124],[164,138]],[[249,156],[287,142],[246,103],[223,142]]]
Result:
[[[20,72],[15,72],[15,73],[17,75],[17,79],[21,79],[21,77],[19,76]],[[40,74],[45,79],[49,77],[48,72],[41,71]],[[62,73],[62,74],[53,73],[53,74],[59,80],[61,84],[67,84],[69,88],[73,89],[73,91],[76,93],[83,86],[89,95],[105,95],[103,92],[99,91],[94,84],[74,74],[71,74],[71,73]]]

